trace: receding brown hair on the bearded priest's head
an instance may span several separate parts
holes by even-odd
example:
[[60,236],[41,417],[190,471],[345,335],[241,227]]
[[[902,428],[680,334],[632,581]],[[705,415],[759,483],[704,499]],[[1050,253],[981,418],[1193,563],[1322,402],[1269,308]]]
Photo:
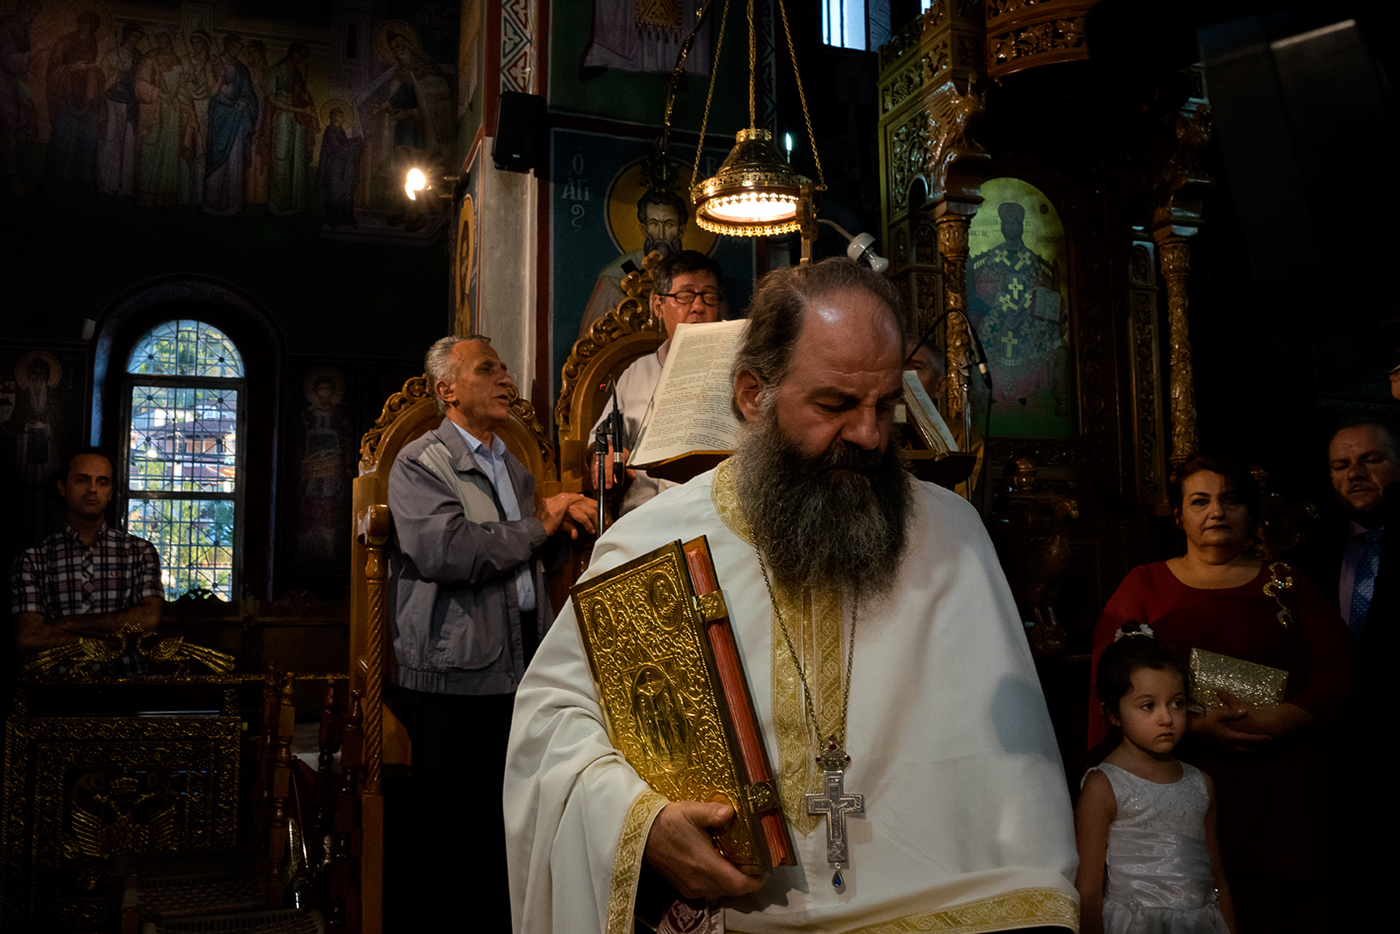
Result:
[[[774,269],[759,280],[759,287],[753,291],[748,312],[749,329],[734,357],[731,382],[745,370],[759,378],[764,392],[783,382],[792,365],[792,349],[802,336],[806,307],[822,295],[850,288],[861,288],[885,302],[896,328],[904,330],[899,290],[868,266],[833,256],[811,266]],[[729,406],[735,417],[743,421],[738,399],[732,395]]]

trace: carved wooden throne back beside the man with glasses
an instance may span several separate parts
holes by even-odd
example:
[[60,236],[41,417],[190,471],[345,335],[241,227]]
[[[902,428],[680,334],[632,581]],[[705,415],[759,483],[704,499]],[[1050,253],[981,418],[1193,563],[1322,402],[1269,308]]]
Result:
[[622,281],[627,297],[595,321],[587,337],[574,343],[561,372],[554,424],[559,427],[559,479],[564,490],[582,489],[592,428],[608,406],[608,379],[622,375],[633,360],[654,353],[666,330],[651,315],[651,270],[661,253],[647,253],[643,270]]

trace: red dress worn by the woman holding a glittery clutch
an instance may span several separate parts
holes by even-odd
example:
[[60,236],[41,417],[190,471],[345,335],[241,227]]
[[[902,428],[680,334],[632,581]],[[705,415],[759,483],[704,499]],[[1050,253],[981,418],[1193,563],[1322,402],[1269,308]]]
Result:
[[[1127,622],[1148,623],[1183,660],[1191,648],[1204,648],[1287,671],[1284,699],[1323,720],[1322,725],[1271,739],[1247,755],[1205,748],[1187,734],[1176,755],[1215,779],[1221,861],[1228,875],[1263,871],[1320,881],[1331,864],[1336,832],[1329,739],[1351,690],[1351,633],[1299,574],[1294,574],[1294,623],[1285,629],[1278,602],[1264,592],[1268,580],[1268,570],[1260,569],[1249,584],[1200,590],[1179,581],[1162,562],[1133,569],[1095,629],[1093,678],[1099,655]],[[1105,737],[1092,685],[1091,748]]]

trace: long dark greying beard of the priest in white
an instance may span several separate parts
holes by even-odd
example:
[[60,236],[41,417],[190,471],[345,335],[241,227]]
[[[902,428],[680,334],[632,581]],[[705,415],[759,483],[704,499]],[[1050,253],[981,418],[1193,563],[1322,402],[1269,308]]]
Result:
[[769,573],[787,588],[837,584],[883,597],[899,577],[913,507],[895,445],[881,452],[837,440],[809,456],[764,402],[735,451],[735,492]]

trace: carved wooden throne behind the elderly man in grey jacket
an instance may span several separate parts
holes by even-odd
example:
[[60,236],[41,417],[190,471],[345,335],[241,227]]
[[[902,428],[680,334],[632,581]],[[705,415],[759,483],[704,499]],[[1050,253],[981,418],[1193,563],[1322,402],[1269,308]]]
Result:
[[[384,679],[391,664],[389,574],[386,546],[392,532],[389,469],[409,441],[441,424],[427,377],[414,377],[384,403],[374,427],[360,442],[360,476],[354,480],[354,543],[350,557],[350,688],[364,697],[364,780],[361,790],[363,856],[360,900],[363,931],[382,930],[384,794],[381,766],[412,760],[403,724],[384,704]],[[536,496],[559,492],[554,447],[535,417],[535,406],[511,391],[511,420],[497,433],[505,447],[535,475]],[[524,504],[533,511],[533,507]]]

